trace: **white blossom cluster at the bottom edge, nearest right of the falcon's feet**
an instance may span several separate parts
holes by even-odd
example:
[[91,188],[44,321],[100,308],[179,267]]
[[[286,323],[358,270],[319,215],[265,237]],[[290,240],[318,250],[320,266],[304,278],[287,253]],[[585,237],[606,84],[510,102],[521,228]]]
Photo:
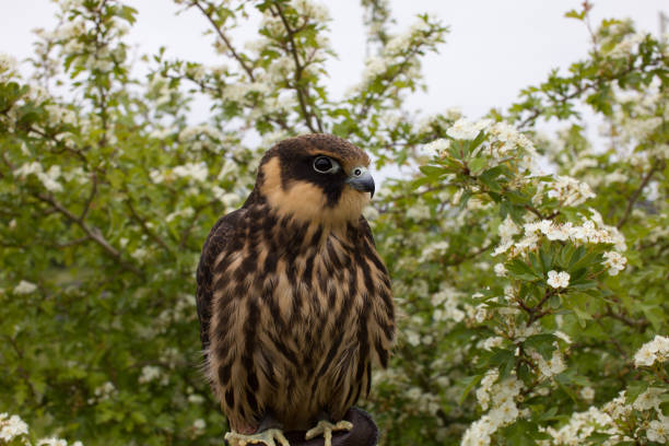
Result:
[[515,376],[503,382],[497,382],[497,371],[489,371],[481,379],[481,387],[477,389],[477,399],[483,410],[490,407],[490,411],[467,429],[460,443],[462,446],[490,445],[491,435],[497,429],[513,423],[518,416],[526,415],[516,406],[523,383]]

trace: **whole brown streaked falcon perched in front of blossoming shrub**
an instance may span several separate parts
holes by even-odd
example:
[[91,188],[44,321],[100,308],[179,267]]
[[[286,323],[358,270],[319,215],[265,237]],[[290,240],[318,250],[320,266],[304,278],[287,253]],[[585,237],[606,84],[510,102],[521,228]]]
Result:
[[233,445],[350,430],[345,412],[386,366],[390,280],[362,210],[367,155],[306,134],[270,149],[246,202],[211,230],[198,266],[206,367]]

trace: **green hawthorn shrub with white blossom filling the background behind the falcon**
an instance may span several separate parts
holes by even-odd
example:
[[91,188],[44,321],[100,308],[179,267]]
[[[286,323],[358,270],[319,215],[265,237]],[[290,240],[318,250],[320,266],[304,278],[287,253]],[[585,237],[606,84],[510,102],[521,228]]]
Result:
[[[363,0],[373,56],[333,98],[325,7],[177,3],[202,14],[220,64],[160,51],[136,75],[120,0],[60,1],[30,77],[0,56],[0,444],[67,444],[21,418],[86,445],[220,444],[199,250],[260,154],[315,131],[404,173],[365,210],[401,312],[363,402],[383,444],[669,442],[666,42],[609,20],[586,60],[508,110],[415,116],[403,102],[447,33],[435,17],[394,34],[388,4]],[[249,15],[258,39],[237,43]]]

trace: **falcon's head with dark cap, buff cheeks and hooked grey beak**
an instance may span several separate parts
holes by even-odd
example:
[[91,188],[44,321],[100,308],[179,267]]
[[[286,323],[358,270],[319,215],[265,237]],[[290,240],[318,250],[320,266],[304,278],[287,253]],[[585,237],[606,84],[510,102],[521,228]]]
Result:
[[303,134],[265,154],[253,195],[260,195],[282,215],[345,224],[360,219],[374,195],[368,166],[367,154],[341,138]]

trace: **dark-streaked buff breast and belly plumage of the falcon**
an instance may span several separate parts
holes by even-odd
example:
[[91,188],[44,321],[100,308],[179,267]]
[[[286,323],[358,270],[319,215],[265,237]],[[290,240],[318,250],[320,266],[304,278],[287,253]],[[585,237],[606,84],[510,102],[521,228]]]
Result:
[[[210,369],[231,421],[271,411],[306,427],[368,391],[392,337],[390,283],[371,238],[253,210],[213,278]],[[376,327],[371,330],[369,327]]]

